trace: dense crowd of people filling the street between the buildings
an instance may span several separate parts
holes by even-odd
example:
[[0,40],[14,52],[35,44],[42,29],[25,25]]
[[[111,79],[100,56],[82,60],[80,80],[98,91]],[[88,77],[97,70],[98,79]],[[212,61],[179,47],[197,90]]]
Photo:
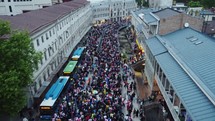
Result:
[[[134,73],[121,60],[118,29],[126,22],[106,22],[88,32],[86,52],[58,102],[53,121],[132,121],[142,115],[133,108]],[[127,96],[122,95],[122,89]],[[126,111],[123,112],[123,109]]]

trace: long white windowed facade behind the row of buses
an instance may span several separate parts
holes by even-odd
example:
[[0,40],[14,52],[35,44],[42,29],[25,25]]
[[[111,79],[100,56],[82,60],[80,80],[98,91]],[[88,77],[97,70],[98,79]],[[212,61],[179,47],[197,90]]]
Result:
[[34,73],[33,95],[41,86],[46,86],[49,83],[46,80],[56,74],[55,71],[65,63],[75,46],[91,28],[91,22],[92,11],[90,4],[87,4],[32,36],[35,49],[43,52],[39,70]]

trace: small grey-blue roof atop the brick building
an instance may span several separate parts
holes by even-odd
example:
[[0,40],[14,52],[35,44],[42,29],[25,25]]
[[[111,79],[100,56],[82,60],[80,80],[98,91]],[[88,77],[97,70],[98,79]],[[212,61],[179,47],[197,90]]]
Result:
[[180,14],[181,12],[179,12],[177,10],[173,10],[171,8],[165,8],[165,9],[161,9],[159,11],[155,11],[153,13],[155,15],[157,15],[160,19],[163,19],[163,18],[169,18],[172,16],[176,16],[176,15]]

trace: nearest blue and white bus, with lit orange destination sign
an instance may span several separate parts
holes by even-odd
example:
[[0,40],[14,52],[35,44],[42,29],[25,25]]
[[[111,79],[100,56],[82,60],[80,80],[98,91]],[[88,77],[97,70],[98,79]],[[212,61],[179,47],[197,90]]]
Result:
[[50,120],[55,111],[55,103],[66,86],[69,76],[60,76],[46,93],[44,100],[40,104],[40,118]]

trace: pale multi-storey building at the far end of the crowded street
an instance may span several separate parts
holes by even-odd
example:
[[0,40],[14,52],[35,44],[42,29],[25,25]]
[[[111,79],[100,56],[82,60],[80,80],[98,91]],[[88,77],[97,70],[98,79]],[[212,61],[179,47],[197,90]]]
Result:
[[135,0],[106,0],[92,3],[93,23],[104,20],[119,21],[130,15],[137,8]]

